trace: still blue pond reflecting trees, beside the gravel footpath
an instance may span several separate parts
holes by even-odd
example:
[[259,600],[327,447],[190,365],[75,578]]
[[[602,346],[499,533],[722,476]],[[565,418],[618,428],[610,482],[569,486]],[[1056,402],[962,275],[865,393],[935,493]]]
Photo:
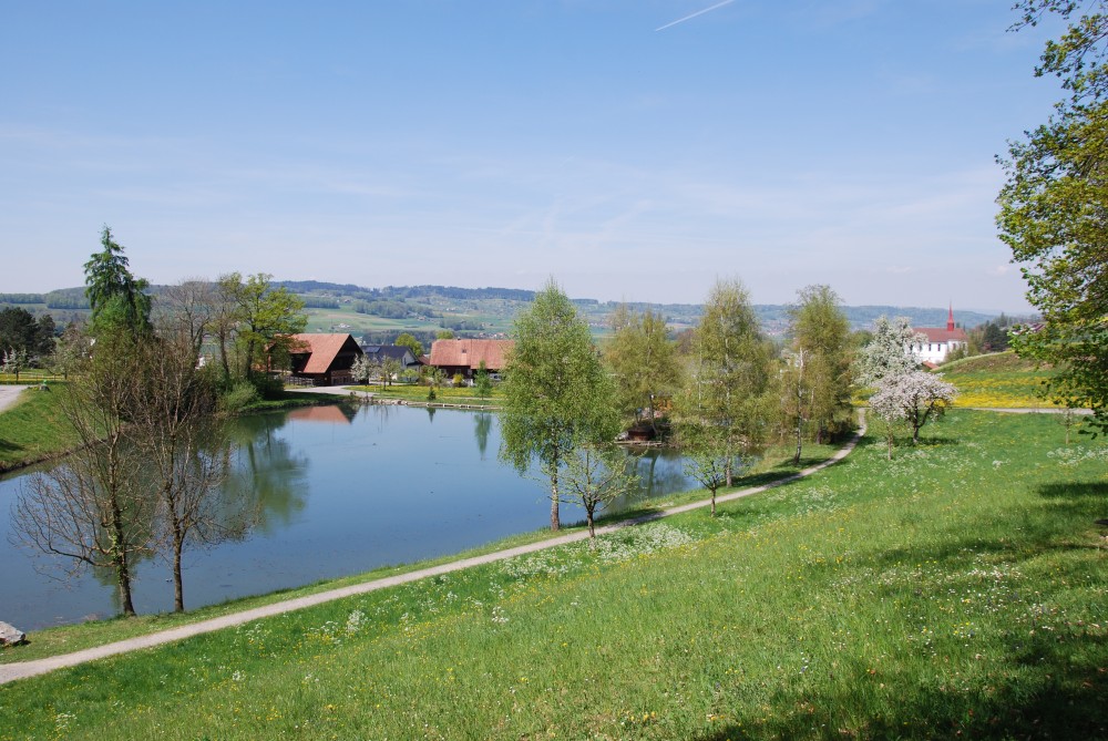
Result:
[[[257,513],[238,539],[185,556],[185,607],[297,587],[458,553],[544,527],[544,484],[500,463],[495,415],[410,406],[314,406],[259,414],[223,431],[229,473],[220,508]],[[648,497],[694,486],[679,456],[636,465]],[[0,620],[22,630],[119,611],[111,574],[60,582],[62,562],[13,542],[10,511],[27,483],[0,480]],[[562,522],[584,511],[562,505]],[[135,609],[173,607],[168,566],[140,564]]]

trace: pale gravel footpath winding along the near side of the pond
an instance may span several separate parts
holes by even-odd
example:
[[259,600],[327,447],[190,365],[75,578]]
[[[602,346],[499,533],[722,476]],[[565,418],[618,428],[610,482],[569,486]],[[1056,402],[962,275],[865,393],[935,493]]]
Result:
[[[792,483],[806,476],[825,469],[830,465],[838,463],[839,461],[847,457],[854,446],[858,445],[858,441],[861,440],[862,435],[865,434],[865,415],[864,412],[859,412],[859,430],[851,438],[850,442],[843,445],[839,451],[835,452],[827,461],[804,469],[798,473],[780,478],[769,484],[762,486],[752,486],[750,488],[739,490],[737,492],[731,492],[729,494],[722,494],[716,497],[717,503],[732,502],[735,500],[742,498],[745,496],[750,496],[751,494],[758,494],[777,486],[783,486],[786,484]],[[699,502],[693,502],[690,504],[684,504],[677,507],[670,507],[668,510],[659,510],[658,512],[653,512],[639,517],[634,517],[630,519],[625,519],[618,523],[613,523],[612,525],[605,525],[603,527],[597,527],[597,535],[603,535],[606,533],[614,533],[615,531],[622,529],[624,527],[634,527],[635,525],[640,525],[647,522],[654,522],[656,519],[661,519],[664,517],[669,517],[671,515],[680,514],[683,512],[689,512],[693,510],[700,510],[707,507],[711,504],[710,500],[701,500]],[[328,591],[320,591],[319,594],[309,595],[307,597],[298,597],[296,599],[286,599],[279,603],[274,603],[273,605],[266,605],[264,607],[257,607],[249,610],[244,610],[242,613],[235,613],[233,615],[224,615],[222,617],[212,618],[208,620],[201,620],[199,622],[193,622],[191,625],[181,626],[178,628],[172,628],[170,630],[162,630],[160,632],[153,632],[146,636],[140,636],[137,638],[129,638],[126,640],[116,641],[114,644],[106,644],[104,646],[98,646],[95,648],[89,648],[82,651],[74,651],[72,653],[62,653],[60,656],[52,656],[44,659],[37,659],[33,661],[22,661],[14,663],[2,663],[0,665],[0,685],[16,681],[18,679],[24,679],[27,677],[34,677],[38,675],[44,675],[54,669],[63,669],[65,667],[74,667],[86,661],[95,661],[96,659],[103,659],[110,656],[117,656],[120,653],[126,653],[127,651],[135,651],[143,648],[154,648],[156,646],[162,646],[164,644],[170,644],[177,640],[183,640],[185,638],[191,638],[193,636],[199,636],[206,632],[213,632],[215,630],[222,630],[223,628],[230,628],[244,622],[250,622],[253,620],[260,620],[263,618],[273,617],[275,615],[281,615],[284,613],[291,613],[294,610],[305,609],[307,607],[314,607],[316,605],[321,605],[324,603],[329,603],[335,599],[342,599],[345,597],[351,597],[353,595],[361,595],[368,591],[376,591],[378,589],[386,589],[388,587],[393,587],[400,584],[408,584],[409,582],[417,582],[419,579],[425,579],[430,576],[438,576],[440,574],[449,574],[451,572],[460,572],[472,566],[480,566],[482,564],[491,564],[497,560],[505,560],[507,558],[514,558],[516,556],[522,556],[524,554],[534,553],[536,550],[545,550],[546,548],[554,548],[567,543],[576,543],[577,541],[584,541],[588,538],[588,531],[582,529],[576,533],[571,533],[570,535],[561,535],[546,541],[540,541],[538,543],[531,543],[527,545],[516,546],[514,548],[505,548],[504,550],[495,550],[493,553],[488,553],[482,556],[474,556],[472,558],[462,558],[459,560],[450,562],[448,564],[441,564],[439,566],[432,566],[429,568],[421,568],[414,572],[409,572],[408,574],[399,574],[397,576],[389,576],[380,579],[372,579],[370,582],[363,582],[362,584],[356,584],[348,587],[341,587],[338,589],[330,589]]]

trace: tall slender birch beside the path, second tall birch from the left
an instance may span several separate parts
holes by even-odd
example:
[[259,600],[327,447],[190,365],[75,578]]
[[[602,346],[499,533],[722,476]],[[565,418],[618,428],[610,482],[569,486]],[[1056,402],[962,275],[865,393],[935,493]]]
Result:
[[771,347],[746,288],[717,282],[693,337],[689,381],[677,400],[678,438],[696,439],[728,464],[765,442],[770,416]]

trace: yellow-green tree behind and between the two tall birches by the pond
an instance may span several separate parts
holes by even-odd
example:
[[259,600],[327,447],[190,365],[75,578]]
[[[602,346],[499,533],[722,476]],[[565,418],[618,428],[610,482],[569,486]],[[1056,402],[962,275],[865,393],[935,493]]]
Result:
[[615,333],[605,348],[605,360],[615,375],[619,410],[637,422],[643,410],[655,425],[654,401],[669,393],[679,379],[675,346],[665,320],[647,309],[632,311],[622,303],[611,319]]

